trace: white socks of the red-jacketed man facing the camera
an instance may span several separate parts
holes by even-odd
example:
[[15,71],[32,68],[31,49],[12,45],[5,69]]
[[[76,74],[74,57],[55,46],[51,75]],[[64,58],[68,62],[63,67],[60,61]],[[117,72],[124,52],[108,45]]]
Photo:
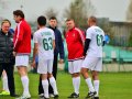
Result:
[[73,78],[73,86],[76,94],[79,94],[80,77]]

